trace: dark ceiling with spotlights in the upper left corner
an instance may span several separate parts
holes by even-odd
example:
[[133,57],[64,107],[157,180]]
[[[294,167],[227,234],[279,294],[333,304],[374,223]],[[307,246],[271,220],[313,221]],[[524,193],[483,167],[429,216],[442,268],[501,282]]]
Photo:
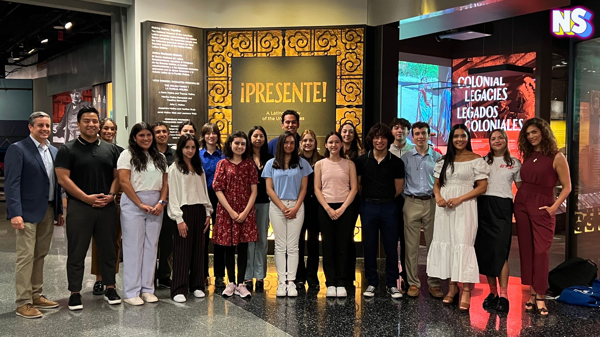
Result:
[[[56,29],[71,22],[70,29]],[[59,34],[62,32],[62,41]],[[38,63],[78,44],[110,32],[110,16],[0,1],[0,63],[22,65],[38,55]],[[48,39],[47,43],[41,43]],[[31,54],[30,50],[35,49]],[[13,54],[20,59],[13,60]],[[31,64],[30,61],[25,62]]]

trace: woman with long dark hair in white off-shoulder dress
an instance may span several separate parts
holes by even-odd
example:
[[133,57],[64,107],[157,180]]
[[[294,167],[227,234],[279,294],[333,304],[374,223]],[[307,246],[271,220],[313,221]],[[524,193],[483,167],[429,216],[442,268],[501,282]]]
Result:
[[464,124],[452,127],[448,151],[434,168],[436,216],[433,242],[427,255],[427,275],[449,279],[444,304],[458,302],[457,282],[463,282],[460,311],[469,311],[470,288],[479,282],[475,256],[477,234],[476,197],[487,189],[490,166],[471,151],[469,131]]

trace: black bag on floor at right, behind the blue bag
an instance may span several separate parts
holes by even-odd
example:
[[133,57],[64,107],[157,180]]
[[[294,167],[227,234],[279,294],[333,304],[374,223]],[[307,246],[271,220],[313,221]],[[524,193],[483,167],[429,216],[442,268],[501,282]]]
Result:
[[556,266],[548,273],[550,291],[560,294],[575,285],[589,286],[598,278],[598,267],[590,260],[574,257]]

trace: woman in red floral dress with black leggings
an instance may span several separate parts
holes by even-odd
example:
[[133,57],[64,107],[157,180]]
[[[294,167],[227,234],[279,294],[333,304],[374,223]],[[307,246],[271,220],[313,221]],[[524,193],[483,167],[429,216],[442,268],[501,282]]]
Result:
[[[212,243],[224,246],[225,266],[229,284],[224,296],[233,294],[250,296],[244,276],[248,262],[248,242],[259,240],[256,227],[256,200],[258,173],[248,158],[248,138],[242,131],[227,137],[223,155],[227,158],[217,163],[212,188],[219,203],[217,221],[212,227]],[[238,248],[238,278],[235,278],[235,248]],[[237,285],[236,285],[237,284]]]

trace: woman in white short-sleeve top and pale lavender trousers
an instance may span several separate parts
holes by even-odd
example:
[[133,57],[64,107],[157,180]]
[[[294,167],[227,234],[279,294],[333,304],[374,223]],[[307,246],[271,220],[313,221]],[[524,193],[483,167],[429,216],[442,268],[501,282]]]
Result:
[[[124,301],[157,302],[154,268],[158,235],[167,203],[167,160],[158,151],[152,128],[131,128],[129,146],[117,162],[121,197]],[[141,297],[141,298],[140,298]]]

